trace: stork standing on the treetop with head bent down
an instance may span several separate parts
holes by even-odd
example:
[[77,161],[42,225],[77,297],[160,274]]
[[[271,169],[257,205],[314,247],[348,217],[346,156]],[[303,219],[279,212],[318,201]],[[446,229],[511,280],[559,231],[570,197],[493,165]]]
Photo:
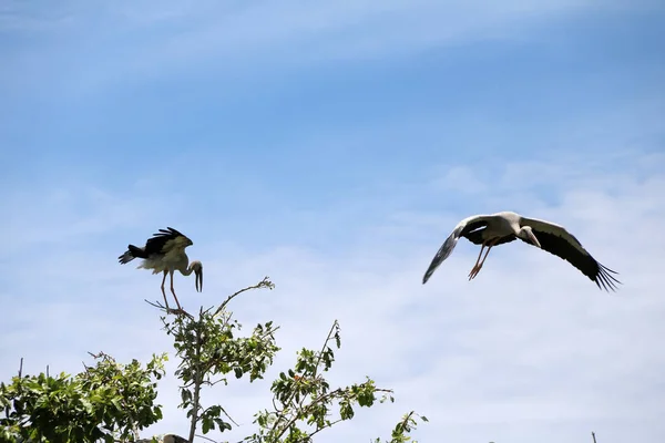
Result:
[[153,234],[153,237],[147,239],[144,247],[129,245],[126,253],[117,259],[124,265],[134,258],[143,258],[143,262],[136,269],[152,269],[153,274],[164,272],[162,295],[164,296],[166,310],[168,310],[168,301],[166,301],[166,292],[164,292],[164,282],[166,281],[166,275],[171,275],[171,293],[175,298],[177,308],[182,309],[173,289],[173,272],[180,270],[183,276],[188,276],[194,271],[196,290],[198,292],[203,290],[203,265],[198,260],[188,264],[190,259],[185,254],[185,248],[192,245],[194,243],[190,238],[173,228],[160,229],[157,234]]

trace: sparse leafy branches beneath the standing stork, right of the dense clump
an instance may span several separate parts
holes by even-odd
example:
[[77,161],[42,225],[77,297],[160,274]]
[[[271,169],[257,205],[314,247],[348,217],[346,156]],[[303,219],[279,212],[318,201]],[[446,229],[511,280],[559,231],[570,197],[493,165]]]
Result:
[[[202,387],[218,382],[226,385],[226,375],[232,372],[236,379],[249,375],[250,382],[262,379],[279,350],[274,336],[278,328],[273,322],[257,324],[249,337],[236,337],[242,326],[226,309],[228,302],[242,292],[260,288],[273,289],[274,285],[265,278],[229,296],[215,310],[201,309],[196,318],[183,310],[171,321],[163,318],[181,360],[176,371],[176,377],[183,381],[180,408],[185,409],[191,419],[190,442],[193,442],[198,425],[204,434],[215,429],[222,432],[232,429],[233,420],[222,405],[203,408]],[[244,442],[311,442],[320,431],[351,420],[355,408],[371,408],[377,400],[393,401],[391,390],[377,388],[369,378],[349,387],[330,388],[323,374],[332,367],[334,348],[339,349],[340,346],[340,328],[335,321],[319,351],[300,350],[295,367],[280,372],[272,384],[274,409],[255,414],[254,423],[258,430]],[[407,434],[416,424],[412,415],[408,414],[398,423],[392,433],[395,443],[409,440]]]

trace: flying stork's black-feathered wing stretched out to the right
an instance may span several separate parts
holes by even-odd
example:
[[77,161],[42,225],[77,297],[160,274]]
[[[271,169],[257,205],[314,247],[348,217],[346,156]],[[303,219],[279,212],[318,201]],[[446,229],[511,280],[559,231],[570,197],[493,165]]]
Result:
[[[589,277],[600,289],[615,290],[621,285],[612,274],[617,274],[604,267],[589,254],[580,240],[569,233],[563,226],[536,218],[522,217],[523,226],[531,226],[535,238],[541,244],[541,249],[563,258],[582,274]],[[528,241],[525,241],[528,243]]]

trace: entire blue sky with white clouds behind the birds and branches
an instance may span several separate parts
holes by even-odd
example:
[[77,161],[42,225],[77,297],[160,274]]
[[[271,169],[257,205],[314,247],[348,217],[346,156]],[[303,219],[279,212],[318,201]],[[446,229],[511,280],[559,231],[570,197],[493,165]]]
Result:
[[[236,311],[283,324],[275,371],[338,318],[338,380],[396,388],[321,442],[410,409],[422,441],[654,440],[664,30],[640,1],[6,1],[0,375],[167,350],[158,277],[116,257],[173,226],[206,269],[202,295],[176,277],[187,305],[273,277]],[[626,285],[520,245],[467,282],[468,244],[420,285],[458,220],[505,209],[570,227]],[[241,437],[267,384],[233,389]]]

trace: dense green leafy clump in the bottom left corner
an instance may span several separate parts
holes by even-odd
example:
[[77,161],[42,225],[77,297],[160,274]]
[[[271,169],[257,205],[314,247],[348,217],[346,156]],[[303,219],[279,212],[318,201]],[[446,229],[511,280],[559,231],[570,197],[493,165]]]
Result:
[[100,353],[94,367],[74,377],[13,377],[0,383],[0,441],[96,442],[135,437],[162,418],[156,382],[165,356],[153,356],[145,368],[136,360],[116,363]]

